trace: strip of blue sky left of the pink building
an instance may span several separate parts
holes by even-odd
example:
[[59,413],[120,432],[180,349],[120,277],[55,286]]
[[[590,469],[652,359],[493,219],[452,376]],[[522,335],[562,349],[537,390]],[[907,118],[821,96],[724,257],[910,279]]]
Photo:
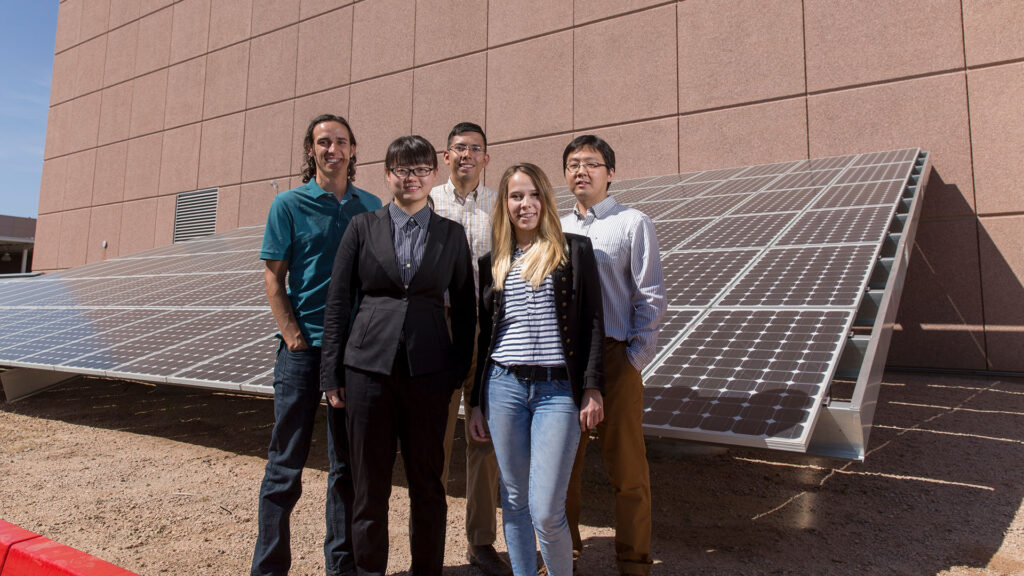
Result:
[[36,217],[57,0],[0,0],[0,214]]

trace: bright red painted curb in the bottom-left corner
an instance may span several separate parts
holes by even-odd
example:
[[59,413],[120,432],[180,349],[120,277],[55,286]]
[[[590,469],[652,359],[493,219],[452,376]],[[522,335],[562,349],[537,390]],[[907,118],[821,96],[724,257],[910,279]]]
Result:
[[137,576],[0,520],[0,576]]

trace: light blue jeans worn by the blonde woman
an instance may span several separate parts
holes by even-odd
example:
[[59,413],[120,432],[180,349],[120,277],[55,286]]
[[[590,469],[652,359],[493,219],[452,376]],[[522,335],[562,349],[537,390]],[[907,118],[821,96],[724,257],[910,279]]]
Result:
[[[493,365],[487,426],[502,477],[505,543],[517,575],[537,574],[537,542],[551,576],[572,574],[565,491],[580,443],[580,409],[565,380],[519,380]],[[536,532],[536,539],[535,539]]]

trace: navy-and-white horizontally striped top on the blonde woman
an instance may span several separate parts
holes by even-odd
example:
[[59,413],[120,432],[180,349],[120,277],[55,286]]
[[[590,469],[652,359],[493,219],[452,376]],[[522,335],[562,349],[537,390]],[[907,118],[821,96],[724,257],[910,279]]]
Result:
[[[516,249],[513,260],[522,254]],[[513,265],[505,279],[505,316],[496,329],[498,339],[490,360],[505,366],[565,365],[551,275],[534,290],[522,279],[522,266]]]

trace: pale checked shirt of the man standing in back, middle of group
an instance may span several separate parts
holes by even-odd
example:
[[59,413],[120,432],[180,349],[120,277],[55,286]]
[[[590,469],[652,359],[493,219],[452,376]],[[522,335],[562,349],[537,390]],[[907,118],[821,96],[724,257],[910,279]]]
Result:
[[[490,211],[495,209],[498,193],[480,183],[463,199],[456,193],[455,184],[449,178],[446,182],[430,191],[430,200],[438,216],[455,220],[466,229],[466,240],[469,241],[473,256],[473,282],[479,297],[480,271],[477,259],[490,251]],[[444,294],[444,303],[447,304],[447,293]]]

